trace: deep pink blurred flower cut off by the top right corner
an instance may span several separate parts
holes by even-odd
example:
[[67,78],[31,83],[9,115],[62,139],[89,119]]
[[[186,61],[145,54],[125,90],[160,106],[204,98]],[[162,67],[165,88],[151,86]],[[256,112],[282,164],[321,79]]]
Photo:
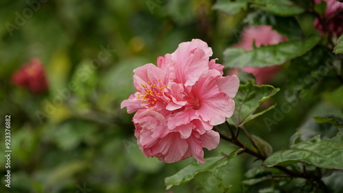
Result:
[[[322,0],[315,0],[315,3],[320,3]],[[324,22],[327,22],[329,36],[336,36],[337,38],[343,34],[343,3],[336,0],[323,0],[327,3],[327,11],[324,14]],[[314,25],[317,29],[322,31],[322,36],[327,31],[324,30],[319,19],[316,18]]]

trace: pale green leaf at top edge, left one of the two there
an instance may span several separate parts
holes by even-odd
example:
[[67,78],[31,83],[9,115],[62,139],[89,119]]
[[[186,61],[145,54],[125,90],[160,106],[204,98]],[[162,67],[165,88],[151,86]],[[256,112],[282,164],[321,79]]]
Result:
[[213,10],[222,11],[230,16],[234,16],[241,10],[246,10],[248,8],[247,0],[237,0],[237,1],[228,1],[220,0],[217,1],[212,7]]

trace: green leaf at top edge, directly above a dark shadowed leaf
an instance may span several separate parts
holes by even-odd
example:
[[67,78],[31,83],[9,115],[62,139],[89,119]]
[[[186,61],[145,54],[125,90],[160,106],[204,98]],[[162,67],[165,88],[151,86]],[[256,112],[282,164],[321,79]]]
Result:
[[289,0],[255,0],[252,6],[279,16],[294,16],[305,11]]

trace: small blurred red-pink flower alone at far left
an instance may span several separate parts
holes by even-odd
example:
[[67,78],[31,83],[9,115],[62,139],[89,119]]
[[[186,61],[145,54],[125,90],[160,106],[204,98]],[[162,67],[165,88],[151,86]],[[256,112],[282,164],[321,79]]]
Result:
[[34,93],[45,92],[48,89],[44,68],[37,57],[32,58],[29,64],[25,64],[12,75],[12,83]]

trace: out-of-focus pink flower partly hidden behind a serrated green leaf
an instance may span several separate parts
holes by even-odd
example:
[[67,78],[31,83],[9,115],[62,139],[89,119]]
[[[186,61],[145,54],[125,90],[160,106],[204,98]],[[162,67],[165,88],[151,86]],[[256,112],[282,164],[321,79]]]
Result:
[[[252,44],[255,42],[256,47],[261,45],[279,44],[280,42],[287,41],[287,38],[281,36],[277,31],[274,31],[269,25],[249,26],[242,32],[243,36],[239,44],[235,44],[234,47],[242,47],[246,50],[252,50]],[[245,67],[244,70],[247,73],[252,73],[256,77],[257,85],[264,83],[270,83],[274,78],[274,75],[279,70],[280,66],[268,66],[263,68]],[[230,70],[230,74],[237,75],[237,69]]]

